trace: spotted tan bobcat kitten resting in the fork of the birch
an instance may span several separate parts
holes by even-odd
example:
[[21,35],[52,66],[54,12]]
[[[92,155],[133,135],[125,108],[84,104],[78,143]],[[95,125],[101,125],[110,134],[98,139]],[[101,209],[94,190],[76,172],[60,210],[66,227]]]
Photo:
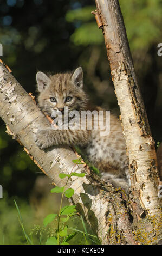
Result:
[[[70,111],[99,111],[101,108],[89,103],[83,91],[83,70],[77,68],[74,73],[45,75],[36,74],[39,92],[38,104],[50,117],[63,113],[64,107]],[[90,163],[97,167],[103,178],[114,187],[130,187],[128,159],[121,123],[114,115],[110,117],[110,132],[101,136],[100,129],[88,130],[38,130],[35,142],[41,149],[53,145],[78,145],[84,150]]]

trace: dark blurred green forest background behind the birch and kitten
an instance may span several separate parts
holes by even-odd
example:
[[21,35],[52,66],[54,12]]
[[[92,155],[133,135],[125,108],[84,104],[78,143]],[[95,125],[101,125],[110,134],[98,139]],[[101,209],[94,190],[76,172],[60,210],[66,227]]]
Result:
[[[156,144],[162,141],[161,0],[119,0],[135,71]],[[92,101],[119,115],[102,31],[96,26],[92,0],[1,0],[1,59],[18,82],[35,93],[35,74],[82,66]],[[60,198],[23,148],[5,133],[0,120],[0,244],[25,243],[16,200],[28,233],[39,235],[43,218],[57,212]],[[58,205],[58,206],[57,206]],[[46,230],[46,233],[50,230]],[[35,238],[35,243],[38,242]],[[74,241],[74,243],[77,243]]]

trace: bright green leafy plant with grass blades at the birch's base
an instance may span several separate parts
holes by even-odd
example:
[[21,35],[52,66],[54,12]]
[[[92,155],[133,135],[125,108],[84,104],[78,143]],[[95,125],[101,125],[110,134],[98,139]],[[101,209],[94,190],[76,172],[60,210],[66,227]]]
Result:
[[[73,162],[74,162],[74,166],[73,166],[73,169],[74,169],[76,164],[81,163],[81,159],[74,160]],[[93,243],[96,243],[98,241],[96,236],[87,233],[86,225],[82,217],[81,217],[81,222],[85,232],[69,226],[68,223],[70,221],[70,218],[73,221],[74,220],[73,216],[76,216],[77,214],[77,211],[75,209],[76,205],[66,205],[62,207],[63,197],[65,196],[67,198],[70,198],[74,194],[74,190],[72,188],[66,189],[70,177],[72,176],[83,177],[85,175],[85,173],[82,173],[82,175],[80,175],[79,173],[75,173],[73,172],[73,169],[70,172],[70,174],[64,175],[64,178],[68,178],[64,186],[62,187],[56,186],[55,188],[53,188],[53,190],[51,190],[51,193],[61,193],[62,196],[61,196],[59,213],[48,214],[43,220],[43,225],[44,225],[44,228],[46,229],[40,227],[39,225],[35,225],[35,227],[30,231],[30,234],[28,235],[28,232],[26,231],[26,228],[24,226],[20,209],[18,208],[18,205],[14,200],[16,209],[18,212],[18,221],[20,222],[20,225],[24,234],[25,243],[35,244],[36,236],[37,236],[37,241],[39,241],[37,243],[39,244],[45,243],[46,245],[57,245],[57,244],[69,245],[69,241],[72,240],[78,233],[82,234],[83,237],[85,237],[86,244],[88,244],[88,241],[92,241]],[[60,177],[63,179],[62,174],[60,175]],[[52,225],[53,228],[51,230],[50,229],[48,230],[47,228],[50,225]],[[70,232],[70,230],[72,231]],[[88,238],[88,236],[94,237],[96,239],[96,242]]]

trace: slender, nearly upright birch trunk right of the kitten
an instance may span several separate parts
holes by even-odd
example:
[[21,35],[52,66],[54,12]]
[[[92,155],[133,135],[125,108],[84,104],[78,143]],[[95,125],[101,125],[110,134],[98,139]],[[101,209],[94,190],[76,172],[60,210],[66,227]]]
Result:
[[154,141],[138,88],[118,0],[96,0],[112,80],[121,111],[133,198],[150,216],[161,216]]

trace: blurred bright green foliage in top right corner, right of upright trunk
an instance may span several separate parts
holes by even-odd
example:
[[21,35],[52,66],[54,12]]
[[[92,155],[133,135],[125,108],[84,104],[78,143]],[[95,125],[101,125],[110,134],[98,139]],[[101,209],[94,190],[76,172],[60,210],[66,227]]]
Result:
[[161,36],[161,0],[120,0],[132,50],[148,47]]

